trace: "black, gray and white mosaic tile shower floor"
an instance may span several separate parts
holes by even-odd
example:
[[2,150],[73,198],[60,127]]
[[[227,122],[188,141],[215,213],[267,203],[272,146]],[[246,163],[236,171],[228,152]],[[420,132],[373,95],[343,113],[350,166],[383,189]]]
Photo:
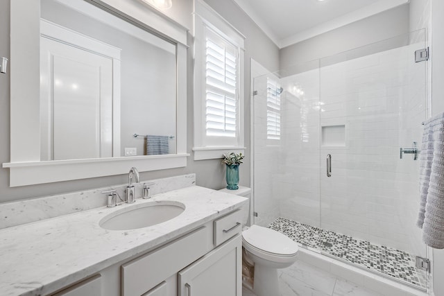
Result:
[[297,243],[339,257],[360,268],[381,272],[418,288],[427,288],[425,271],[416,269],[415,257],[407,252],[286,218],[278,218],[268,227],[282,232]]

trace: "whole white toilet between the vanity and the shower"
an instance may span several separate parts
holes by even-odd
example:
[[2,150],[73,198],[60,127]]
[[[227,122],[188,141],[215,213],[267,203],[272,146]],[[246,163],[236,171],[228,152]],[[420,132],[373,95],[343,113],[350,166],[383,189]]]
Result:
[[[227,193],[250,198],[248,187],[237,190],[221,189]],[[278,269],[287,268],[296,262],[298,245],[288,236],[273,229],[250,224],[250,203],[244,211],[242,247],[244,261],[254,265],[253,292],[257,296],[280,295]],[[250,287],[248,287],[250,288]]]

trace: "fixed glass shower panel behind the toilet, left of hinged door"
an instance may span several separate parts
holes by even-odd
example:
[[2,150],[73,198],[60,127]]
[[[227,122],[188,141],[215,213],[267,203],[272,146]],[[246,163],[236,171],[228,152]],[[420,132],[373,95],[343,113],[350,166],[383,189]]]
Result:
[[254,223],[320,226],[318,61],[254,78]]

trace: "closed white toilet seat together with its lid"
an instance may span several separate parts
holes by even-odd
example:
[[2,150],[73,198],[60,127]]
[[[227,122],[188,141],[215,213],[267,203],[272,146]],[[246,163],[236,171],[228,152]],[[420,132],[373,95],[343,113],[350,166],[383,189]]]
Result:
[[248,252],[269,261],[289,261],[298,252],[298,245],[288,236],[257,225],[242,232],[242,241]]

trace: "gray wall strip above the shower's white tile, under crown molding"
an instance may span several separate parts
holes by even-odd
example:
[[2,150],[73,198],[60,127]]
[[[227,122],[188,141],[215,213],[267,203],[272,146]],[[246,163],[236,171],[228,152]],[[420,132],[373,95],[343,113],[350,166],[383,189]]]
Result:
[[325,58],[408,32],[409,6],[399,6],[284,47],[280,50],[280,69],[289,69],[294,64]]

